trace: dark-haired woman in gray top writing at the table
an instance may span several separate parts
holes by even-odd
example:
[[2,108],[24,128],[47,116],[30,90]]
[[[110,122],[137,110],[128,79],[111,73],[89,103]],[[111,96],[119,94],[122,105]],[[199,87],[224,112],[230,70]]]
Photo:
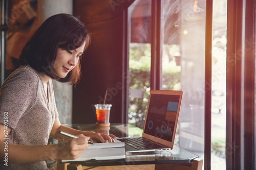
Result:
[[[89,41],[90,34],[76,17],[57,14],[42,23],[25,45],[20,55],[22,66],[0,90],[3,168],[47,169],[45,160],[79,157],[88,148],[87,140],[114,142],[114,135],[78,131],[62,126],[58,118],[51,79],[75,85]],[[79,138],[70,139],[58,131]],[[47,145],[49,136],[65,140]]]

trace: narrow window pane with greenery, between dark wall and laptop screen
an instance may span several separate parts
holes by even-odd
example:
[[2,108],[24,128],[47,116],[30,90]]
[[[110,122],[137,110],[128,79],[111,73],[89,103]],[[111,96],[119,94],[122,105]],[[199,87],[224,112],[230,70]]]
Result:
[[[129,124],[143,129],[151,68],[151,1],[137,0],[128,9],[130,21]],[[142,135],[141,132],[138,135]]]

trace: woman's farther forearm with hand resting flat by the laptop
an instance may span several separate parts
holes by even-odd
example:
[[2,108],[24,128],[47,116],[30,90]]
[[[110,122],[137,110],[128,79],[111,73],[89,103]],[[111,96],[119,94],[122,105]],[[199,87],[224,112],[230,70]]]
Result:
[[87,131],[79,131],[73,128],[69,128],[67,126],[63,126],[60,124],[59,122],[59,118],[57,117],[54,121],[53,127],[52,127],[52,131],[50,136],[54,139],[67,139],[68,137],[65,137],[61,134],[59,134],[59,131],[63,131],[66,133],[70,133],[72,135],[79,135],[79,134],[83,134],[84,136],[89,136],[90,137],[90,141],[94,142],[94,140],[99,140],[100,142],[106,142],[106,140],[108,142],[115,142],[113,138],[115,138],[114,135],[110,134],[110,135],[105,135],[105,134],[100,134],[100,133],[95,133],[95,132],[87,132]]

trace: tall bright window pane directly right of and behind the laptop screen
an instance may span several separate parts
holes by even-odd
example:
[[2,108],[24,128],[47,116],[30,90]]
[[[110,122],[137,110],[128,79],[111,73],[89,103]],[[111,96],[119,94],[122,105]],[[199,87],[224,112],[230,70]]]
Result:
[[204,157],[205,1],[163,1],[162,89],[182,90],[176,144]]

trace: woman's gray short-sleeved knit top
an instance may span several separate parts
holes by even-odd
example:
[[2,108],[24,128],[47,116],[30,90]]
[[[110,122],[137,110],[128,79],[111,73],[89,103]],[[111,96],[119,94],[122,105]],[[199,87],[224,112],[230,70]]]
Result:
[[[11,128],[7,137],[8,143],[47,144],[54,120],[58,117],[52,80],[50,79],[47,84],[49,100],[40,76],[32,67],[23,65],[12,72],[2,85],[0,89],[0,124],[8,124],[8,128]],[[39,159],[44,156],[41,155]],[[1,164],[0,169],[2,168],[48,169],[45,161],[8,163],[8,166]]]

